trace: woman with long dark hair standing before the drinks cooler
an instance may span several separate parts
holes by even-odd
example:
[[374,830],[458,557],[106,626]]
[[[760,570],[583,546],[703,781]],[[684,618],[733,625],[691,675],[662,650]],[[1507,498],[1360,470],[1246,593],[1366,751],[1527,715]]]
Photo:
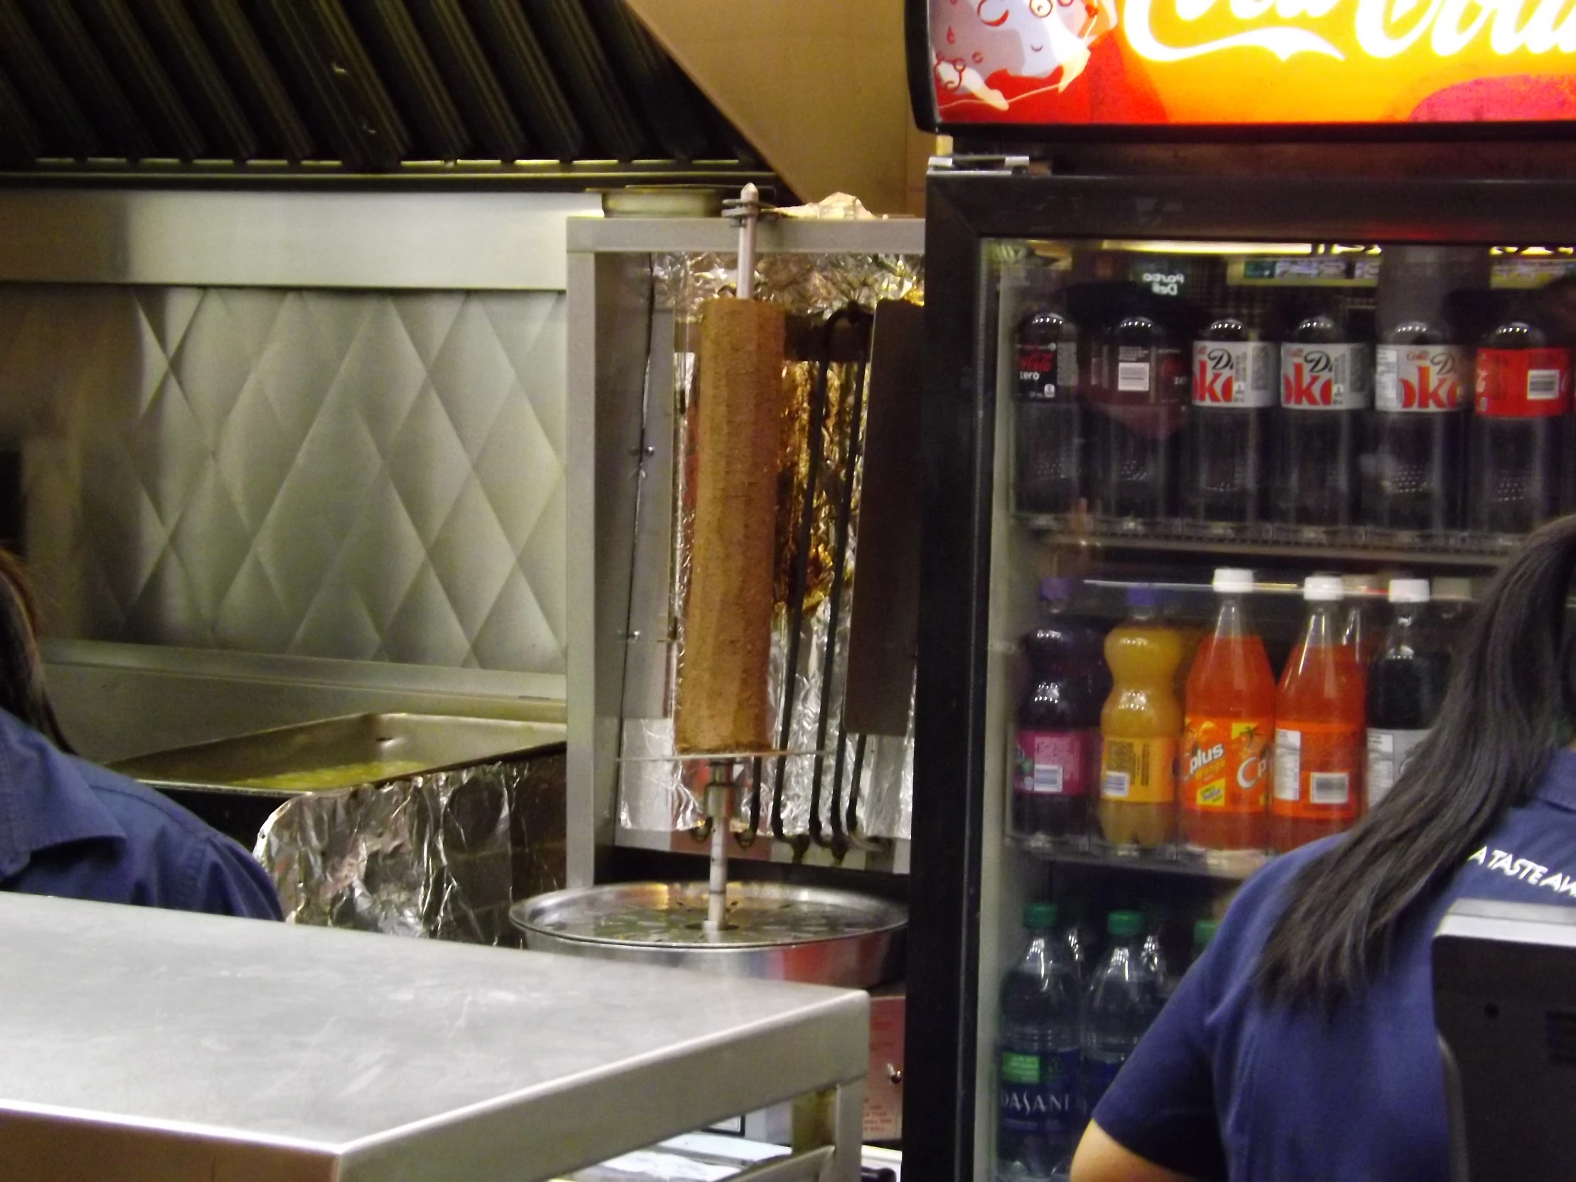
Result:
[[1463,897],[1576,906],[1573,572],[1576,517],[1500,569],[1395,788],[1243,886],[1073,1182],[1448,1179],[1429,938]]

